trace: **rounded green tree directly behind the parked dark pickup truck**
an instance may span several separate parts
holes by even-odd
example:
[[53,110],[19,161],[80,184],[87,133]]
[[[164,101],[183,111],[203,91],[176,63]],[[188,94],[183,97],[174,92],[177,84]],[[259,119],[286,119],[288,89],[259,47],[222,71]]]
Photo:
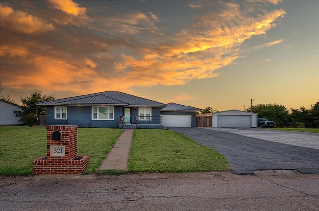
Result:
[[[250,108],[246,109],[250,111]],[[288,126],[288,110],[280,104],[258,104],[252,106],[252,112],[258,113],[258,117],[275,121],[278,127]]]

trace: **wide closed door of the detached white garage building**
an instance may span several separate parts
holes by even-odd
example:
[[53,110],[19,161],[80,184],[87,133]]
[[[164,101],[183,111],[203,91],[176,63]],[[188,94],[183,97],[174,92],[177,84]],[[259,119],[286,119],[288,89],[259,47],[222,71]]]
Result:
[[251,127],[251,116],[247,115],[218,115],[218,127]]

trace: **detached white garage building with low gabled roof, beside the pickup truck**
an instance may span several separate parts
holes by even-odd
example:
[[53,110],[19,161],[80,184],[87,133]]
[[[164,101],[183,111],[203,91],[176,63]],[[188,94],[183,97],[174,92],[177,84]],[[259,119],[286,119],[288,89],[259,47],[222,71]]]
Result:
[[227,110],[213,113],[212,127],[257,127],[257,113]]

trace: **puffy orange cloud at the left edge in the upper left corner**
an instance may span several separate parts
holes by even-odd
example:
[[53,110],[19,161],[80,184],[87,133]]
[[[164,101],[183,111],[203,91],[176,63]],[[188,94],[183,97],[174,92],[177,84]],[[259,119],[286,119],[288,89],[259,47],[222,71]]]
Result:
[[1,26],[8,27],[15,31],[34,34],[53,31],[52,24],[45,23],[41,18],[23,11],[14,11],[11,7],[0,7]]

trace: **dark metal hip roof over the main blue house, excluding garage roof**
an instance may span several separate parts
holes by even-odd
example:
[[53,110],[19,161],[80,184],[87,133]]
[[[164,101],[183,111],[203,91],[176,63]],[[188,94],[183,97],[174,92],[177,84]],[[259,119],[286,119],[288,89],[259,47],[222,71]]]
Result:
[[38,102],[36,105],[119,105],[119,106],[166,106],[157,101],[137,97],[117,91],[105,91],[69,98],[62,98],[52,101]]

